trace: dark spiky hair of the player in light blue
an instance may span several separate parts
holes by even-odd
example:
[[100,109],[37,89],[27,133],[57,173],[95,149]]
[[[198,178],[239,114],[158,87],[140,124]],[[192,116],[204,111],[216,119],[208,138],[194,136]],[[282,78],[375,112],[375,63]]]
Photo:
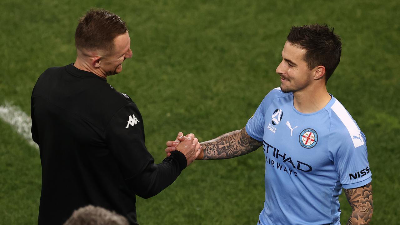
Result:
[[333,31],[334,28],[329,28],[326,24],[293,26],[287,37],[291,44],[307,50],[304,61],[309,70],[316,66],[325,67],[325,81],[328,81],[335,71],[342,53],[340,37]]

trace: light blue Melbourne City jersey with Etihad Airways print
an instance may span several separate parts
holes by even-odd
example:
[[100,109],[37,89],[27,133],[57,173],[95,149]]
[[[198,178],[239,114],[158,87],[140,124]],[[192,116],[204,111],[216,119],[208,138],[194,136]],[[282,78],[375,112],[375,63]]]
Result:
[[275,88],[246,131],[264,145],[262,225],[338,225],[342,187],[371,182],[365,136],[333,96],[304,114],[294,108],[292,92]]

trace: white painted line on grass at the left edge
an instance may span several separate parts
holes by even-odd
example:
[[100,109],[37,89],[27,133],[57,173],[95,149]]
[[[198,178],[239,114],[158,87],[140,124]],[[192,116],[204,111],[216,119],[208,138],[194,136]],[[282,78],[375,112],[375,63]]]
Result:
[[32,120],[30,116],[26,115],[18,106],[14,106],[10,103],[0,105],[0,118],[14,127],[30,145],[39,148],[32,140],[32,133],[30,132]]

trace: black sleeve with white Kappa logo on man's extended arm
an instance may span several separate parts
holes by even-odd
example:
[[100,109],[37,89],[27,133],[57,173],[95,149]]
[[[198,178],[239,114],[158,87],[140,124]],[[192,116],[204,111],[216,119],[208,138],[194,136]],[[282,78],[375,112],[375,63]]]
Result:
[[133,102],[114,115],[105,138],[126,184],[140,197],[157,195],[186,168],[186,157],[180,151],[173,151],[162,163],[154,164],[144,144],[142,116]]

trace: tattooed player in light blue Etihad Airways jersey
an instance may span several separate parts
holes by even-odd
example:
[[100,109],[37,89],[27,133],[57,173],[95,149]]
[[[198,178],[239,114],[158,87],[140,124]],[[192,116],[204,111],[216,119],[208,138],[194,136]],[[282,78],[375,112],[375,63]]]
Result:
[[[326,90],[341,42],[327,25],[292,27],[270,91],[246,127],[202,142],[198,159],[229,159],[263,147],[265,202],[258,224],[338,225],[344,188],[353,211],[348,225],[372,217],[366,138]],[[180,134],[182,135],[182,134]],[[168,141],[166,153],[179,141]]]

